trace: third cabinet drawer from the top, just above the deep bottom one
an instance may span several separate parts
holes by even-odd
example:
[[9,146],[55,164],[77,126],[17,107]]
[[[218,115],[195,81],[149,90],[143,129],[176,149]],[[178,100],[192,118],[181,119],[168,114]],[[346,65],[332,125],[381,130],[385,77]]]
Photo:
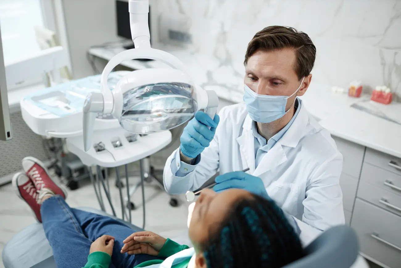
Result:
[[401,196],[367,182],[359,182],[358,197],[401,215]]

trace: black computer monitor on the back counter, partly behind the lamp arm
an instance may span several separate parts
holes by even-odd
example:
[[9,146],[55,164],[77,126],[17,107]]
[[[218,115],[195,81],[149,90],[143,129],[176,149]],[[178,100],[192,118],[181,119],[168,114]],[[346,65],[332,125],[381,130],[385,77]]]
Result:
[[[132,39],[131,25],[130,25],[130,11],[128,9],[127,0],[116,0],[116,12],[117,12],[117,35],[127,39]],[[150,31],[150,6],[148,15],[148,25]],[[124,47],[126,49],[135,48],[134,44]]]

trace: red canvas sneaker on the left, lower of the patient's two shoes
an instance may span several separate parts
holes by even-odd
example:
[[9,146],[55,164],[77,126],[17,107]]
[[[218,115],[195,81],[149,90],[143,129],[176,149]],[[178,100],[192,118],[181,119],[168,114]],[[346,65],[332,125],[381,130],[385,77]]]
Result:
[[12,177],[12,185],[16,188],[18,196],[32,209],[36,220],[42,222],[39,193],[33,182],[25,173],[18,172]]

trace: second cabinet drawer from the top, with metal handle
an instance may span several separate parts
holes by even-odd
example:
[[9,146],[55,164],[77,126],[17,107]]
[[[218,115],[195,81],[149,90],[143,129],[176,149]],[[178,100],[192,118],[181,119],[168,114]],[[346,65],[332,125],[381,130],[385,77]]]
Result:
[[360,181],[369,182],[394,194],[401,195],[401,176],[366,162],[363,163]]

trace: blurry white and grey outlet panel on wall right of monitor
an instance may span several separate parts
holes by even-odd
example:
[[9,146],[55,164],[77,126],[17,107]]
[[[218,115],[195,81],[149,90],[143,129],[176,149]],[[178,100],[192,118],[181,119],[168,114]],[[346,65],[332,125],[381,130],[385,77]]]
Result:
[[162,43],[174,45],[191,44],[190,28],[192,19],[182,14],[161,14],[159,18],[159,38]]

